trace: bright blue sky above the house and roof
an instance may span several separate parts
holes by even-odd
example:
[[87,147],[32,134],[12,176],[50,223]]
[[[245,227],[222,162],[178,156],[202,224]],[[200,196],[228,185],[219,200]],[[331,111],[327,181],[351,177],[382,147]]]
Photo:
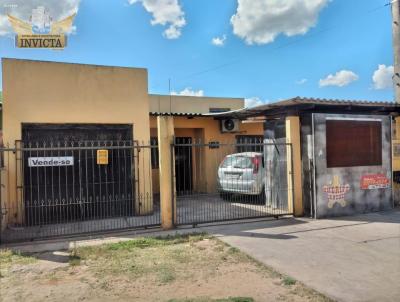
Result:
[[[49,7],[54,18],[78,8],[76,29],[62,51],[17,49],[3,9],[1,57],[145,67],[150,93],[168,94],[171,79],[176,93],[249,104],[293,96],[393,100],[389,0],[284,0],[283,13],[275,0],[68,0],[55,8],[62,1],[14,2],[21,18],[23,5]],[[3,8],[14,2],[0,0]],[[257,20],[249,17],[254,12]]]

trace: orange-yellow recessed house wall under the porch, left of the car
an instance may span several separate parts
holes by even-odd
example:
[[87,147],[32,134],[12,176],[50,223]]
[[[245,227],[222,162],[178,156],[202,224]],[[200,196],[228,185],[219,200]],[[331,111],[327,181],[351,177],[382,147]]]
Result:
[[[157,133],[157,118],[150,117],[150,127],[152,136]],[[236,135],[263,135],[263,122],[241,123],[237,133],[221,133],[220,122],[212,117],[175,117],[174,118],[175,136],[191,137],[193,143],[209,143],[218,141],[220,143],[234,144]],[[230,149],[229,149],[230,148]],[[209,149],[208,147],[198,147],[193,150],[192,158],[192,177],[193,189],[197,191],[215,193],[216,192],[216,172],[218,165],[225,155],[234,153],[233,146],[221,147],[220,149]],[[201,154],[199,154],[201,152]],[[159,192],[156,180],[158,170],[153,169],[153,190]]]

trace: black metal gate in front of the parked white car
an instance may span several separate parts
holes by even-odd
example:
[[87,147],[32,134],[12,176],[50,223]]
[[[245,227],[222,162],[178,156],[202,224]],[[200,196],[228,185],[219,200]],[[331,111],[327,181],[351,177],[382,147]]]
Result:
[[192,189],[179,191],[182,170],[174,175],[178,225],[293,214],[290,144],[254,138],[235,143],[177,139],[171,148],[192,154],[190,163],[180,163]]

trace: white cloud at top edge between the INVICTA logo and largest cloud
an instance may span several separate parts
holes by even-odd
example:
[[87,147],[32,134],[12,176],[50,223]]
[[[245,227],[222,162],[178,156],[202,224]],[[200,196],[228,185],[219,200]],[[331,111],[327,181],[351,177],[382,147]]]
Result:
[[163,33],[167,39],[180,37],[186,20],[178,0],[129,0],[130,4],[138,2],[152,15],[151,25],[167,26]]

